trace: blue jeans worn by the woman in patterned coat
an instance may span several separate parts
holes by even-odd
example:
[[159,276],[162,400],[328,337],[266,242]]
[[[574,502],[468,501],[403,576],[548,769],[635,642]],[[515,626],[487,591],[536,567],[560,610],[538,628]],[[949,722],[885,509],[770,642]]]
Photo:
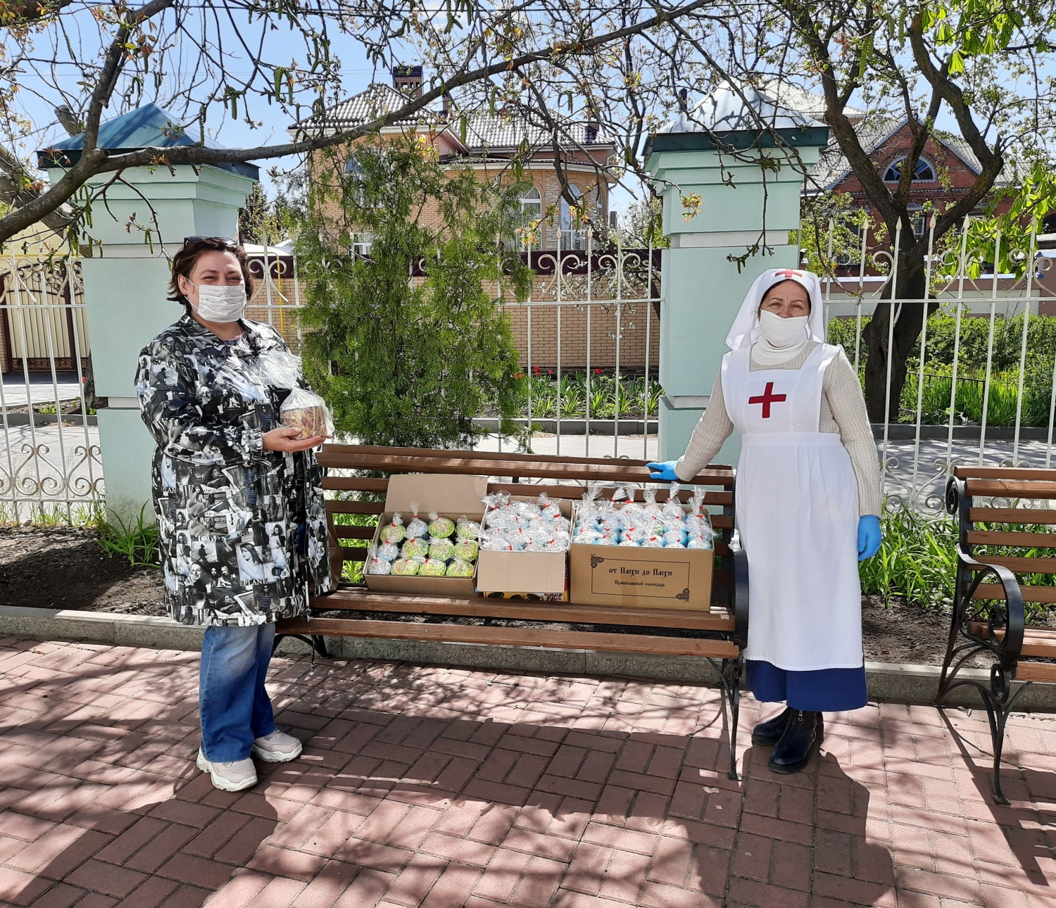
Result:
[[202,753],[213,763],[249,758],[254,738],[275,731],[264,677],[275,623],[207,627],[199,669]]

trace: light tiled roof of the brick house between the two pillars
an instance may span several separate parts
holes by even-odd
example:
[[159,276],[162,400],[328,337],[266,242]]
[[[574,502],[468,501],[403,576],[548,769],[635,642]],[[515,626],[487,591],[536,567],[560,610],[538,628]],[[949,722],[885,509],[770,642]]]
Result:
[[[379,116],[399,110],[407,103],[407,95],[381,82],[373,82],[365,91],[329,108],[322,116],[301,120],[295,127],[302,132],[317,129],[348,129],[370,122]],[[465,145],[470,153],[487,150],[513,149],[527,140],[532,148],[543,148],[552,143],[549,130],[542,124],[526,120],[516,114],[467,113],[465,115]],[[611,143],[583,120],[554,116],[562,125],[565,147],[604,146]],[[448,116],[436,108],[426,108],[417,115],[397,120],[395,126],[434,126],[448,129],[461,141],[461,115]]]

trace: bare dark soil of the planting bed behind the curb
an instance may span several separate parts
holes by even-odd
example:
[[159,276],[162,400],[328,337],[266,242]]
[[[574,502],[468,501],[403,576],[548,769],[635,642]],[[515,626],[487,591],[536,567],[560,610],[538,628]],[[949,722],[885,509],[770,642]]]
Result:
[[[164,616],[161,571],[134,568],[109,556],[97,538],[93,530],[67,527],[0,529],[0,605]],[[880,597],[863,597],[862,625],[868,662],[942,663],[949,633],[947,612],[907,603],[885,605]]]

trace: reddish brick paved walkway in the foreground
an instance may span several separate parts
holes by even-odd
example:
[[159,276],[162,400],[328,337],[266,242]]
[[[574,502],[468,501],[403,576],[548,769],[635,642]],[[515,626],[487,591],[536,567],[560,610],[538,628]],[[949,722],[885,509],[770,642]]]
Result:
[[[0,903],[1056,905],[1056,721],[870,706],[725,776],[714,691],[277,659],[305,740],[242,794],[193,765],[196,654],[0,640]],[[976,759],[979,764],[976,764]],[[1020,769],[1016,769],[1018,764]]]

